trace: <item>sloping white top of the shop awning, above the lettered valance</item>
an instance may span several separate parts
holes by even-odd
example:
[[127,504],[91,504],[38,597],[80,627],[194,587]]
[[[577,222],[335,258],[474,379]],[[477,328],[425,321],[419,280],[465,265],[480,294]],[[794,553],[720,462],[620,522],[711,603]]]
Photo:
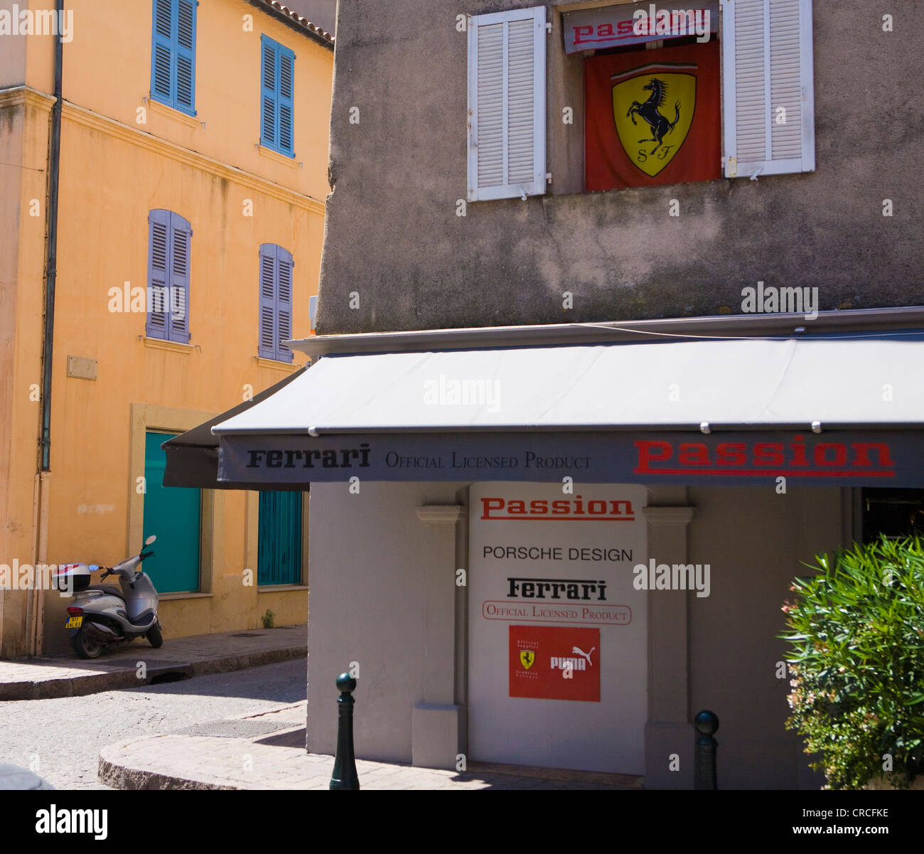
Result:
[[922,364],[875,335],[329,356],[212,432],[916,429]]

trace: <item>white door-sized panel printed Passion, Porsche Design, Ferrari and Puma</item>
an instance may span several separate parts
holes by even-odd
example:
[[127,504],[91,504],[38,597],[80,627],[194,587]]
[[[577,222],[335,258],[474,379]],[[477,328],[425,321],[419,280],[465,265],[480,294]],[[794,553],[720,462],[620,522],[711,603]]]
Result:
[[626,483],[471,485],[473,760],[644,772],[647,498]]

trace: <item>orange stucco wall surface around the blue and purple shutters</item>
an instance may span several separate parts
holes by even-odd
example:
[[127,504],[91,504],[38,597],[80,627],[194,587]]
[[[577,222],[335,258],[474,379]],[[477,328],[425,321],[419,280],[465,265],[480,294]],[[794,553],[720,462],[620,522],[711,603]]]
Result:
[[[137,551],[143,496],[132,454],[145,427],[137,413],[156,419],[148,428],[180,432],[282,379],[291,367],[257,359],[258,250],[276,243],[294,256],[295,337],[309,334],[321,262],[333,52],[243,0],[201,0],[197,116],[190,117],[150,102],[150,0],[68,6],[47,545],[33,525],[41,404],[29,399],[30,384],[42,381],[46,173],[19,169],[15,201],[5,193],[0,202],[0,563],[43,551],[48,563],[111,563]],[[263,33],[297,57],[295,160],[258,145]],[[51,89],[53,43],[18,41],[25,42],[22,73],[12,60],[0,62],[0,87],[8,90],[0,89],[0,159],[44,168],[50,101],[35,92],[35,104],[7,102],[15,100],[13,87]],[[29,216],[33,197],[41,200],[40,217]],[[147,341],[143,311],[112,311],[113,288],[147,284],[154,208],[184,216],[193,231],[188,348]],[[68,356],[96,360],[97,378],[68,377]],[[267,608],[277,625],[306,618],[307,591],[258,593],[243,583],[244,570],[256,570],[248,566],[247,505],[244,493],[213,501],[202,532],[206,595],[162,603],[166,638],[253,628]],[[40,527],[43,512],[40,506]],[[56,594],[44,600],[45,651],[63,649],[67,602]],[[23,593],[4,594],[2,655],[25,651],[24,602]]]

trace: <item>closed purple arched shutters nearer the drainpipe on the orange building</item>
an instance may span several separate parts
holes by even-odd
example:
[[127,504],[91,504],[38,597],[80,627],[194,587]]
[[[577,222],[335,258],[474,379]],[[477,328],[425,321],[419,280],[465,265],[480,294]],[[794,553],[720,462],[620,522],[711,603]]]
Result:
[[179,214],[148,214],[148,323],[151,338],[189,343],[189,249],[192,229]]

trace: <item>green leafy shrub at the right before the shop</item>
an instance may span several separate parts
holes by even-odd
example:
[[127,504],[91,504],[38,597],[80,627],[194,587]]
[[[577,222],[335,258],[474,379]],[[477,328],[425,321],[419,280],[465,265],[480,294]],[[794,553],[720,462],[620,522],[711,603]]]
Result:
[[[924,774],[924,541],[855,545],[816,557],[786,603],[788,729],[821,755],[826,788]],[[892,773],[889,773],[889,772]]]

